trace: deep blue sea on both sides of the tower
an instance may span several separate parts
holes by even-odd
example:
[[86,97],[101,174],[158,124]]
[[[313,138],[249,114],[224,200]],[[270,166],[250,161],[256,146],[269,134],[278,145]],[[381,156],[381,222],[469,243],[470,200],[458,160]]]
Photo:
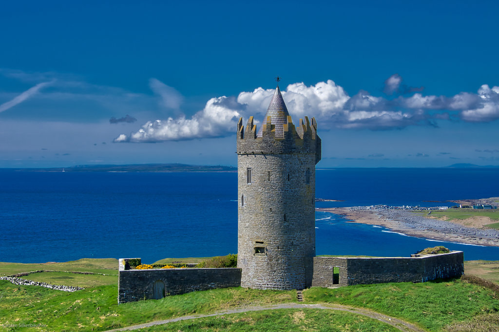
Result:
[[[318,169],[317,207],[453,205],[499,196],[499,168]],[[425,202],[437,200],[442,202]],[[0,170],[0,261],[200,257],[237,252],[237,173]],[[317,254],[408,256],[438,244],[465,259],[499,247],[439,243],[316,212]]]

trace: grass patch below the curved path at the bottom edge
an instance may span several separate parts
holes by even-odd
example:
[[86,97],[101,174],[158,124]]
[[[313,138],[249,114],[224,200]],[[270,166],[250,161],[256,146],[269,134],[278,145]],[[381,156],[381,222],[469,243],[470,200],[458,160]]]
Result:
[[141,329],[144,332],[203,330],[219,332],[399,331],[397,328],[374,318],[350,312],[318,309],[276,309],[235,313],[177,321]]

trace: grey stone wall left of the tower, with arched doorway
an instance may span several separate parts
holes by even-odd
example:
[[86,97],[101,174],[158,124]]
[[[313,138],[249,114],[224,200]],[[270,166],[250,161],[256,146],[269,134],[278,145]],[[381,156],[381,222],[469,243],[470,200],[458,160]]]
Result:
[[[118,303],[161,298],[196,290],[239,287],[240,268],[156,268],[126,269],[126,258],[120,258],[118,271]],[[155,289],[156,284],[164,289]],[[163,286],[162,286],[163,287]]]

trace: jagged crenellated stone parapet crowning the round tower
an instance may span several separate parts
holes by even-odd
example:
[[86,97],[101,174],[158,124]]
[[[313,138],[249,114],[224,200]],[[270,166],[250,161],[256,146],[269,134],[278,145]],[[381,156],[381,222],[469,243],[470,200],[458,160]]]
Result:
[[317,134],[317,121],[314,117],[311,121],[308,116],[305,116],[305,120],[300,118],[299,125],[295,126],[290,115],[287,115],[286,122],[282,124],[272,124],[272,117],[267,116],[261,131],[257,132],[253,116],[248,119],[246,128],[241,117],[238,121],[236,153],[314,153],[315,163],[321,159],[321,139]]

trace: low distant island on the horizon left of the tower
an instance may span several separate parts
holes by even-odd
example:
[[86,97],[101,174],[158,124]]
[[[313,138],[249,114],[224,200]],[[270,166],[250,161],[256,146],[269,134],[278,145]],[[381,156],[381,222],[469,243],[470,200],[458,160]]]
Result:
[[145,163],[129,165],[76,165],[51,168],[15,168],[19,171],[44,172],[236,172],[234,166],[189,165],[184,163]]

